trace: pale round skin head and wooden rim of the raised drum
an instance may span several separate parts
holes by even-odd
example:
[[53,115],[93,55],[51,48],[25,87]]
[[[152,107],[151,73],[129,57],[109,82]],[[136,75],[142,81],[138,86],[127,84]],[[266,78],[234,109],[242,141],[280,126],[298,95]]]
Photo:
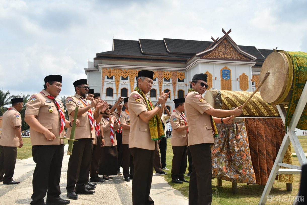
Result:
[[290,56],[283,52],[268,55],[261,68],[259,82],[266,72],[270,71],[269,77],[259,89],[262,99],[270,104],[280,104],[287,97],[292,85],[292,61]]

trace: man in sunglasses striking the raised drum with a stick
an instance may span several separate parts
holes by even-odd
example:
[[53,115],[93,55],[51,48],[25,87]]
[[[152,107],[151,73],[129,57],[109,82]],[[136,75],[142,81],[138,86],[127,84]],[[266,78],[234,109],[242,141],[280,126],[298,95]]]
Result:
[[[212,108],[202,94],[207,85],[206,74],[194,75],[185,98],[185,112],[188,120],[188,146],[192,154],[192,174],[189,186],[189,205],[204,205],[212,202],[211,149],[214,144],[212,117],[239,116],[242,106],[234,110]],[[232,123],[232,116],[213,118],[215,123]]]

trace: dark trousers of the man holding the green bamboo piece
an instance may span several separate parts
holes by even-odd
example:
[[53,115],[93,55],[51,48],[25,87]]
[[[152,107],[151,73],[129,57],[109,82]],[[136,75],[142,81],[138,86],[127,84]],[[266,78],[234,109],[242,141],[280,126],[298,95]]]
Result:
[[33,173],[33,194],[30,204],[45,204],[47,192],[48,200],[60,198],[60,178],[64,156],[62,145],[34,145],[32,146],[33,161],[36,163]]

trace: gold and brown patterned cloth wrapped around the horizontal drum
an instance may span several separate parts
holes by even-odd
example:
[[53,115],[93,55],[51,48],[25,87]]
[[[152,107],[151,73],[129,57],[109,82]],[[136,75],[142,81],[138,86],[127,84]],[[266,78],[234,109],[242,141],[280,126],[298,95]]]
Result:
[[[230,110],[243,105],[253,92],[220,90],[220,93],[222,109]],[[277,117],[279,112],[276,105],[267,104],[257,92],[244,107],[240,117],[244,116]]]

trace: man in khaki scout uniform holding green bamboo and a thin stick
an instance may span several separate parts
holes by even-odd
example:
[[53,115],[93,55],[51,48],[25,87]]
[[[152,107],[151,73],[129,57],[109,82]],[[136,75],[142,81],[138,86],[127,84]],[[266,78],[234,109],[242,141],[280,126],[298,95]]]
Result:
[[[46,192],[46,204],[69,204],[69,200],[60,198],[64,141],[56,139],[64,137],[64,128],[71,126],[71,122],[65,119],[63,103],[57,98],[62,90],[62,76],[49,75],[44,81],[44,89],[30,97],[25,110],[25,122],[30,126],[33,161],[36,163],[31,204],[45,204]],[[76,125],[80,125],[79,120]]]

